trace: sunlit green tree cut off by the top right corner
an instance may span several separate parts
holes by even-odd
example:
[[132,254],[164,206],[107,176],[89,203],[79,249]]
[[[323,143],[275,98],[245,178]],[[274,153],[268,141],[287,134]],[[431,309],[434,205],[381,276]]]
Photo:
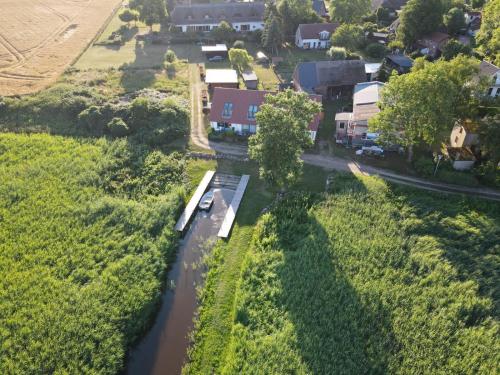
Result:
[[500,64],[500,0],[490,0],[484,7],[476,41],[481,52]]

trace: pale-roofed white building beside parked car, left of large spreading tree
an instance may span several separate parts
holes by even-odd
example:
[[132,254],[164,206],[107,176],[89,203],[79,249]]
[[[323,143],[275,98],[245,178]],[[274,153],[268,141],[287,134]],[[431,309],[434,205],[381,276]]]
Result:
[[381,82],[363,82],[354,87],[353,111],[335,115],[336,139],[360,144],[368,133],[368,120],[380,112],[377,103],[384,87]]

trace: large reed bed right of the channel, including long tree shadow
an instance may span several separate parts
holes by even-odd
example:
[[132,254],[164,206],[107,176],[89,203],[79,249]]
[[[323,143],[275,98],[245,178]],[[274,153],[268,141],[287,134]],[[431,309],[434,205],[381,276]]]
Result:
[[260,220],[213,372],[495,373],[499,205],[373,178],[333,187]]

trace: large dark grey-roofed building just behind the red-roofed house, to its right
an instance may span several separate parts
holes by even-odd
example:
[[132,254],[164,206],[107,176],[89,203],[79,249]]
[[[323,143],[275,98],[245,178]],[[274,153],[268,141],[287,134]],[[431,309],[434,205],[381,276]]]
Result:
[[352,95],[354,86],[366,81],[362,60],[303,62],[295,67],[293,83],[297,91],[337,99]]

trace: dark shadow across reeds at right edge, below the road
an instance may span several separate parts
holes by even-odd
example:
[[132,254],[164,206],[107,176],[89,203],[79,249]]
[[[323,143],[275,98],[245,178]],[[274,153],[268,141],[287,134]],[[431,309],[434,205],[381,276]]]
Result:
[[479,294],[493,301],[492,315],[500,317],[500,204],[455,194],[422,194],[390,185],[409,212],[408,235],[432,236],[461,281],[474,280]]

